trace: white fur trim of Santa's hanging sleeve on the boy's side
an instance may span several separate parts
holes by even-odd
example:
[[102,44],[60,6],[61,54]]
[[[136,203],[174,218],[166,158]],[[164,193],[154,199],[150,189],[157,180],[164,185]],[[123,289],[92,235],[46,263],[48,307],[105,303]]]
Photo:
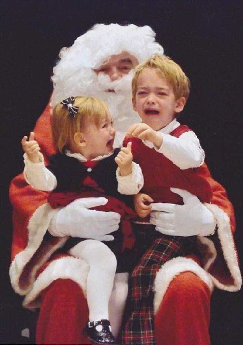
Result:
[[[218,225],[218,236],[222,247],[222,252],[225,262],[230,270],[231,276],[234,279],[234,285],[224,285],[220,283],[214,276],[211,279],[216,287],[222,290],[234,292],[240,290],[242,286],[242,277],[240,268],[237,261],[236,249],[234,246],[233,235],[231,233],[230,218],[229,216],[217,205],[204,204],[214,215]],[[200,237],[198,237],[200,239]],[[201,242],[204,242],[203,237]],[[205,243],[205,242],[204,242]],[[208,270],[210,262],[204,265],[204,269]]]

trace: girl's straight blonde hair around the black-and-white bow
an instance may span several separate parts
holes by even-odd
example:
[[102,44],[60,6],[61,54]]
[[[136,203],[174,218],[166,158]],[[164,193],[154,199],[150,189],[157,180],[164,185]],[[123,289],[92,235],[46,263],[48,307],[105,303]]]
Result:
[[75,117],[69,115],[65,105],[59,103],[53,110],[52,133],[54,144],[62,154],[73,141],[76,132],[82,132],[87,122],[97,127],[104,118],[110,116],[106,104],[94,97],[77,96],[72,106],[78,107]]

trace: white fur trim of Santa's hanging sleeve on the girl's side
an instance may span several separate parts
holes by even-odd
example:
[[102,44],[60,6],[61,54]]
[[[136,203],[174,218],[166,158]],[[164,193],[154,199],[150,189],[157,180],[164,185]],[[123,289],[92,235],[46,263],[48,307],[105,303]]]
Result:
[[50,249],[35,265],[35,267],[33,267],[30,275],[30,284],[28,284],[27,287],[21,288],[19,285],[19,279],[24,270],[24,267],[30,261],[36,250],[40,247],[50,221],[58,211],[59,208],[54,210],[49,204],[43,204],[35,210],[29,220],[29,237],[27,247],[15,256],[9,270],[11,285],[14,291],[20,295],[25,295],[30,291],[34,283],[34,277],[37,270],[58,248],[60,248],[66,242],[67,236],[60,238],[59,243],[57,243],[55,246],[50,247]]

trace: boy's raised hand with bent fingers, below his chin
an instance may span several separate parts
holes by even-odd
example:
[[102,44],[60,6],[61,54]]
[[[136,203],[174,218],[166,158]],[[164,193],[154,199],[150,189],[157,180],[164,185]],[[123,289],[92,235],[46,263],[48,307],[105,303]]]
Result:
[[134,124],[128,128],[126,138],[132,137],[151,141],[157,147],[160,147],[163,142],[163,138],[159,133],[143,123]]

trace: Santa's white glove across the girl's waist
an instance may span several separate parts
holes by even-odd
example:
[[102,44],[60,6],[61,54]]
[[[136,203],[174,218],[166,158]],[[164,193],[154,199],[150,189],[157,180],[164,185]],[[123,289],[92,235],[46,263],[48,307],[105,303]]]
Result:
[[107,199],[80,198],[61,208],[51,220],[49,233],[53,236],[72,236],[112,241],[114,236],[107,235],[119,228],[120,215],[116,212],[89,210],[88,208],[105,205]]

